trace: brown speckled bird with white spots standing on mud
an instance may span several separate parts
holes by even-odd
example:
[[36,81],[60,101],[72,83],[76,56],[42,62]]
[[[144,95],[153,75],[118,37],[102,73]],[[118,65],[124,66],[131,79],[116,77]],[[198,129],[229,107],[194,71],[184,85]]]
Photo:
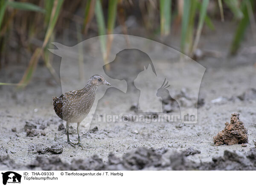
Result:
[[[81,90],[73,90],[62,94],[59,97],[53,97],[53,108],[58,117],[66,121],[66,131],[67,131],[67,143],[75,147],[79,145],[84,148],[81,144],[81,139],[79,135],[79,125],[90,112],[90,109],[95,100],[96,90],[100,85],[111,85],[105,78],[101,75],[94,75],[89,78],[85,87]],[[69,124],[77,123],[77,134],[78,142],[70,142],[69,138]]]

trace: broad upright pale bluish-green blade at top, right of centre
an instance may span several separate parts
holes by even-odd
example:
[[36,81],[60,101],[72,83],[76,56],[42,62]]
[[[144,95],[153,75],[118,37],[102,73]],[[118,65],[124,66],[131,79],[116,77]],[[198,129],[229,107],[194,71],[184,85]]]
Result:
[[169,35],[171,28],[172,0],[160,0],[160,32],[161,36]]

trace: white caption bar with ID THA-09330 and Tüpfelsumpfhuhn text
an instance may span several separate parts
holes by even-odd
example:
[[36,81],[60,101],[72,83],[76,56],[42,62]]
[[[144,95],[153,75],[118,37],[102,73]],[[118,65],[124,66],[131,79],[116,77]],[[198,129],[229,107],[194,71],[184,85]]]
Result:
[[[251,185],[254,171],[1,171],[1,182],[12,186],[61,185]],[[21,177],[20,177],[21,176]],[[246,179],[238,179],[246,178]],[[1,183],[2,184],[2,183]]]

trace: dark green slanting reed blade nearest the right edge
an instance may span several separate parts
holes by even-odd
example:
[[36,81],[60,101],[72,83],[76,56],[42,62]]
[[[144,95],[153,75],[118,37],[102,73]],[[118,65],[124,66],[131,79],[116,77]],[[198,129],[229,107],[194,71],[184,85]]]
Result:
[[[240,20],[240,22],[236,28],[236,33],[234,35],[234,38],[233,38],[233,41],[231,44],[231,48],[230,48],[231,54],[235,54],[237,52],[237,50],[239,49],[241,41],[244,37],[244,32],[245,32],[248,24],[250,23],[247,6],[246,6],[246,1],[247,0],[244,0],[241,5],[241,10],[242,10],[244,17],[243,17],[243,19]],[[250,0],[250,3],[252,4],[252,6],[254,6],[254,0]]]

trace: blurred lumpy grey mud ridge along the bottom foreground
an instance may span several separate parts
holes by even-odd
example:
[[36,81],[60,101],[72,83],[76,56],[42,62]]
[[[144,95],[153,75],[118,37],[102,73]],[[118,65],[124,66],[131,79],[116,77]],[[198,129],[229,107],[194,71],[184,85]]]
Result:
[[[190,150],[189,150],[190,151]],[[4,162],[4,163],[3,163]],[[0,156],[1,164],[15,162],[8,156]],[[42,170],[256,170],[256,148],[247,153],[240,151],[224,151],[221,157],[212,158],[211,162],[195,163],[187,159],[184,151],[137,148],[128,151],[123,157],[116,157],[113,153],[105,163],[97,155],[88,158],[73,159],[70,163],[60,157],[36,157],[35,161],[27,166],[29,169]]]

